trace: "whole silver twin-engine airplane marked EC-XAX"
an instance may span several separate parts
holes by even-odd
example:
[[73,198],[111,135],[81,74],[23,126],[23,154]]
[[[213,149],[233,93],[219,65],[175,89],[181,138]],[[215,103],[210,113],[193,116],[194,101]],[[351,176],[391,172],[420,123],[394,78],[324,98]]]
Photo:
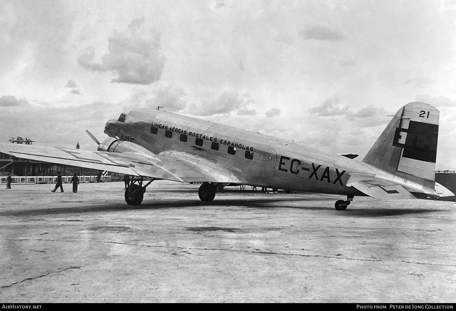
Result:
[[[140,205],[155,180],[202,183],[198,196],[211,202],[219,184],[378,200],[454,196],[435,182],[439,110],[422,102],[404,105],[362,161],[298,142],[240,130],[166,110],[131,110],[108,120],[97,151],[0,144],[0,152],[37,161],[134,176],[125,190],[128,205]],[[136,178],[135,178],[136,176]],[[147,184],[143,180],[150,178]]]

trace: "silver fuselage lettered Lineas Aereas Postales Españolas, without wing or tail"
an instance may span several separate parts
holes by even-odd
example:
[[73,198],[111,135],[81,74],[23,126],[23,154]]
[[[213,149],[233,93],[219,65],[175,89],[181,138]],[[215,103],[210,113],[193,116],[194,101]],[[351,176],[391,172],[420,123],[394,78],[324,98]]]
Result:
[[105,133],[154,154],[172,150],[204,157],[232,168],[250,186],[364,196],[345,185],[351,172],[372,171],[363,162],[291,140],[167,111],[132,110],[124,121],[109,120]]

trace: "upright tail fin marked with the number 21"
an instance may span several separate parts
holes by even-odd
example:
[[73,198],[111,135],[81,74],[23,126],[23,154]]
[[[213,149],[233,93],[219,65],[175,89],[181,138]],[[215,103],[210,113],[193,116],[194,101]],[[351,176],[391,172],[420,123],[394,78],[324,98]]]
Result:
[[398,175],[435,180],[439,110],[412,102],[394,115],[363,161]]

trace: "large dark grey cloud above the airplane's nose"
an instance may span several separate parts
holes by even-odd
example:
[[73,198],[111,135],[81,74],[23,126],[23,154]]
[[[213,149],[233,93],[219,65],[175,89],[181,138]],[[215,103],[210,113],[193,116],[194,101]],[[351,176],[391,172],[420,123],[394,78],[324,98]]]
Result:
[[112,71],[118,78],[111,82],[149,85],[161,79],[166,57],[161,55],[160,33],[147,29],[144,17],[134,19],[124,31],[114,31],[108,52],[101,64],[93,62],[95,50],[89,48],[78,64],[90,71]]

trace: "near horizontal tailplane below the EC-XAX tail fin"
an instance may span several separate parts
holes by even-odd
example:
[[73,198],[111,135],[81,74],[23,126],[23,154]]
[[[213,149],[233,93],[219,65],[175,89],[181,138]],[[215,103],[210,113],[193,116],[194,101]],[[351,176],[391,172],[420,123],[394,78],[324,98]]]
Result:
[[347,181],[347,186],[352,186],[377,200],[416,199],[403,186],[375,177],[374,174],[352,173]]

